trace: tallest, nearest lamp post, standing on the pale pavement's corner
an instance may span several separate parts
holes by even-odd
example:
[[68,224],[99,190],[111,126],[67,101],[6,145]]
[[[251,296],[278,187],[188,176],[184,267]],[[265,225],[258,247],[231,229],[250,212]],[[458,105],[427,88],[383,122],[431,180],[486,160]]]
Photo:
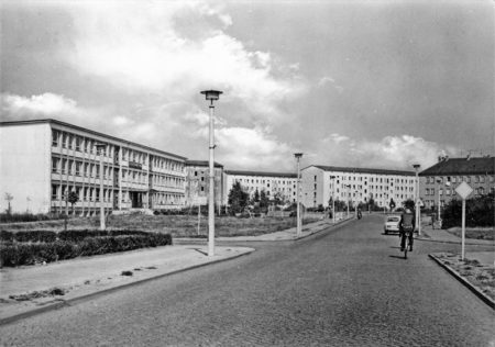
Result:
[[210,101],[210,187],[209,187],[209,199],[208,199],[208,256],[215,256],[215,170],[213,170],[213,158],[215,158],[215,128],[213,128],[213,116],[215,116],[215,105],[213,101],[220,98],[222,92],[219,90],[204,90],[201,94],[205,94],[206,100]]

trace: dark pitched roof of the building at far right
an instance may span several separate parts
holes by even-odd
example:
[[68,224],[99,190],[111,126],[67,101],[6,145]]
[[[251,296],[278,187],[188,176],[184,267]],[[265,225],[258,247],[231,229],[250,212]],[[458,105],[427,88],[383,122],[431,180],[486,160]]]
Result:
[[446,158],[419,172],[419,176],[494,175],[495,157]]

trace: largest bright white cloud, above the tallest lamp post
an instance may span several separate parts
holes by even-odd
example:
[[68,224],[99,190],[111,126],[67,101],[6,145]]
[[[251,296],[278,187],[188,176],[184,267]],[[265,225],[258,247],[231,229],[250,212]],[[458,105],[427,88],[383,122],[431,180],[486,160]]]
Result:
[[190,101],[215,86],[224,99],[270,119],[282,113],[280,102],[306,90],[288,64],[226,34],[232,19],[219,5],[101,1],[72,13],[76,37],[66,59],[128,93]]

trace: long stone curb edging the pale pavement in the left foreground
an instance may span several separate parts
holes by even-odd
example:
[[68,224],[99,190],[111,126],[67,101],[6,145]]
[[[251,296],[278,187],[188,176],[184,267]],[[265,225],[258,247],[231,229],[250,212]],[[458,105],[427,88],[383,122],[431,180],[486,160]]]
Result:
[[172,276],[172,275],[176,275],[176,273],[194,270],[194,269],[206,267],[206,266],[212,265],[212,264],[218,264],[218,262],[223,262],[223,261],[227,261],[227,260],[237,259],[237,258],[240,258],[240,257],[243,257],[243,256],[248,256],[248,255],[252,254],[253,251],[255,251],[255,249],[246,251],[246,253],[243,253],[243,254],[240,254],[240,255],[237,255],[237,256],[233,256],[233,257],[230,257],[230,258],[217,259],[217,260],[212,260],[212,261],[205,262],[205,264],[194,265],[194,266],[188,267],[188,268],[184,268],[184,269],[175,270],[175,271],[172,271],[172,272],[166,272],[166,273],[162,273],[162,275],[144,278],[144,279],[141,279],[141,280],[138,280],[138,281],[134,281],[134,282],[131,282],[131,283],[124,283],[124,284],[121,284],[121,286],[103,289],[103,290],[100,290],[100,291],[96,291],[94,293],[89,293],[89,294],[85,294],[85,295],[81,295],[81,296],[72,298],[72,299],[68,299],[68,300],[57,299],[56,303],[46,304],[46,306],[43,306],[43,307],[33,309],[33,310],[30,310],[30,311],[26,311],[26,312],[23,312],[23,313],[14,314],[14,315],[12,315],[10,317],[0,318],[0,326],[1,325],[7,325],[7,324],[10,324],[10,323],[13,323],[13,322],[16,322],[19,320],[32,317],[34,315],[37,315],[37,314],[41,314],[41,313],[44,313],[44,312],[48,312],[48,311],[52,311],[52,310],[59,310],[59,309],[65,307],[65,306],[73,306],[73,305],[76,305],[78,303],[82,303],[82,302],[89,301],[91,299],[96,299],[96,298],[98,298],[100,295],[109,294],[109,293],[112,293],[112,292],[116,292],[116,291],[119,291],[119,290],[122,290],[122,289],[127,289],[127,288],[130,288],[130,287],[133,287],[133,286],[138,286],[138,284],[142,284],[142,283],[150,282],[150,281],[153,281],[153,280],[157,280],[157,279],[161,279],[161,278],[165,278],[165,277],[168,277],[168,276]]

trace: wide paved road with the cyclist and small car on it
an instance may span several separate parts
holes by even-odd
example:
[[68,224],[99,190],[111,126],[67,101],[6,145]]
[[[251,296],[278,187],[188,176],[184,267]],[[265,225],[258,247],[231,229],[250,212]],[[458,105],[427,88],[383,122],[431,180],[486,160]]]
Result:
[[[15,346],[495,346],[491,307],[365,216],[0,326]],[[250,246],[253,246],[250,244]]]

